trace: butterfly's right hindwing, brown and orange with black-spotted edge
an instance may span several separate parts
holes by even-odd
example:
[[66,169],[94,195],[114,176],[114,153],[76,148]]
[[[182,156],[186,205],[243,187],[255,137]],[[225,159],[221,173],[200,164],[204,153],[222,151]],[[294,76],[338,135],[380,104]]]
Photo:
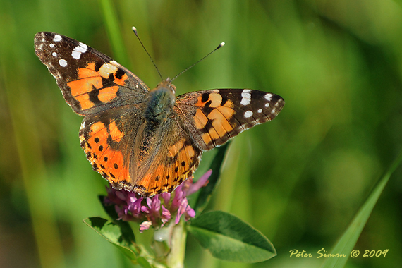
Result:
[[130,157],[135,192],[144,197],[170,193],[193,175],[202,151],[180,118],[168,118],[156,132],[140,130],[139,133],[141,144],[134,146]]

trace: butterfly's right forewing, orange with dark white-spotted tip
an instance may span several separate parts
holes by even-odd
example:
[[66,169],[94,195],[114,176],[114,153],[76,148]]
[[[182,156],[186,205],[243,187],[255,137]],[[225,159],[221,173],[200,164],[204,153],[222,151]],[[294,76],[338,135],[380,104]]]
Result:
[[190,92],[176,98],[174,107],[201,150],[223,145],[238,133],[274,119],[284,99],[248,89]]

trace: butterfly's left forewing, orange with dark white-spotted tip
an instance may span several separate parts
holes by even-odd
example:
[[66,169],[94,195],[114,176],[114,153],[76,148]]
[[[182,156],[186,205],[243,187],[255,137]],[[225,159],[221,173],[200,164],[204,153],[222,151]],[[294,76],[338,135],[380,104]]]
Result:
[[140,78],[86,44],[53,32],[35,35],[35,53],[56,78],[63,97],[80,115],[141,102],[148,87]]

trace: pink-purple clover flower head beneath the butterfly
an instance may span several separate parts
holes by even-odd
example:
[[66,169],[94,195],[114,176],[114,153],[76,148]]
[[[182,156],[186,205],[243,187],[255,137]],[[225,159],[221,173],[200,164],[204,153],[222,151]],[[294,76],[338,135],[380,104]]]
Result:
[[212,170],[207,171],[198,181],[193,183],[193,177],[179,185],[173,193],[162,193],[153,197],[144,198],[137,193],[126,190],[106,188],[105,205],[114,205],[118,219],[136,221],[140,223],[140,231],[159,229],[174,219],[178,224],[184,215],[185,221],[195,217],[195,211],[188,205],[187,197],[207,184]]

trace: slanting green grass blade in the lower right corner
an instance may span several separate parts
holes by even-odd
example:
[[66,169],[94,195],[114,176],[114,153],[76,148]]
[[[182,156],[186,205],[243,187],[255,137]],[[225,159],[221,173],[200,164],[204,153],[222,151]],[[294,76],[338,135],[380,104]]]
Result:
[[[379,195],[381,195],[382,190],[384,190],[386,183],[388,183],[389,181],[389,177],[391,176],[392,173],[394,173],[395,169],[401,164],[401,162],[402,162],[402,153],[399,154],[399,156],[395,159],[394,163],[392,163],[391,166],[389,167],[388,171],[386,171],[384,176],[377,183],[376,187],[374,188],[374,190],[372,190],[372,193],[369,195],[369,197],[367,197],[367,200],[365,201],[363,206],[360,207],[358,213],[355,215],[355,218],[353,219],[351,224],[349,224],[348,229],[346,229],[345,233],[343,233],[338,243],[336,243],[334,249],[331,252],[331,254],[334,255],[336,253],[338,253],[339,255],[344,254],[346,255],[346,257],[326,258],[324,264],[322,265],[322,268],[329,268],[329,267],[341,268],[345,266],[348,257],[351,255],[351,252],[355,247],[356,241],[358,240],[360,233],[362,233],[362,230],[367,222],[368,217],[370,217],[374,205],[377,203]],[[360,252],[360,256],[361,255],[362,252]]]

